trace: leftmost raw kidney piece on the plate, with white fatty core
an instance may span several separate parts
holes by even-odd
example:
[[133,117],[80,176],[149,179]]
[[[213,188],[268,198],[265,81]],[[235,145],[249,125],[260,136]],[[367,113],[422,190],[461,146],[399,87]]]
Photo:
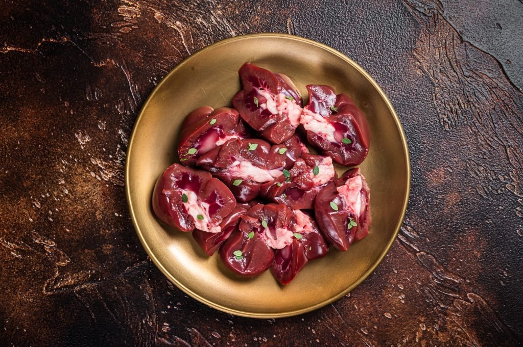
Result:
[[173,164],[156,181],[152,204],[158,218],[181,231],[219,233],[236,200],[209,172]]

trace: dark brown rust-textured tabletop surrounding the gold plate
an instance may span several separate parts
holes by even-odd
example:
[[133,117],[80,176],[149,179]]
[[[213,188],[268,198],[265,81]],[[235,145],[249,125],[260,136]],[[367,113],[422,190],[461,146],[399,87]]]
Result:
[[[521,344],[523,3],[305,3],[2,2],[0,345]],[[412,160],[406,219],[376,272],[278,320],[223,314],[169,284],[123,187],[157,82],[210,43],[263,31],[365,68]]]

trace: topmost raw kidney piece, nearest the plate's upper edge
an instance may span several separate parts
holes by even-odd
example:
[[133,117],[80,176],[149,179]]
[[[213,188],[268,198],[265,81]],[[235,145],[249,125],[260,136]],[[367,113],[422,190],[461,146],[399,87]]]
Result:
[[303,103],[289,77],[245,63],[238,71],[242,90],[233,106],[244,121],[272,143],[287,141],[300,125]]

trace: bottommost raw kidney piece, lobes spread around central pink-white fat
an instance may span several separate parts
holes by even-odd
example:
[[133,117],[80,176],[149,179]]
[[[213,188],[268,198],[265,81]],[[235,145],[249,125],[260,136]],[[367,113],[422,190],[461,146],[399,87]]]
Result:
[[253,206],[220,248],[223,262],[235,273],[254,277],[271,267],[282,284],[292,281],[309,260],[327,252],[314,220],[281,204]]

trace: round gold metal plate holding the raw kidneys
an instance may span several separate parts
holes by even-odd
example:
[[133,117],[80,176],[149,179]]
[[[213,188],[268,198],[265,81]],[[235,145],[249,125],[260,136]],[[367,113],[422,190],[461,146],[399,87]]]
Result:
[[[371,189],[370,232],[347,252],[332,249],[309,262],[287,286],[270,271],[254,279],[234,275],[218,254],[208,257],[190,233],[156,219],[156,178],[175,160],[179,127],[199,106],[230,105],[240,89],[238,68],[252,62],[305,85],[326,84],[349,94],[367,115],[371,146],[360,165]],[[345,171],[337,167],[338,173]],[[356,288],[380,264],[401,223],[410,189],[407,143],[400,119],[377,83],[355,62],[323,44],[287,34],[243,35],[214,43],[179,63],[153,90],[134,125],[126,161],[131,219],[156,266],[197,300],[240,316],[276,318],[329,304]]]

